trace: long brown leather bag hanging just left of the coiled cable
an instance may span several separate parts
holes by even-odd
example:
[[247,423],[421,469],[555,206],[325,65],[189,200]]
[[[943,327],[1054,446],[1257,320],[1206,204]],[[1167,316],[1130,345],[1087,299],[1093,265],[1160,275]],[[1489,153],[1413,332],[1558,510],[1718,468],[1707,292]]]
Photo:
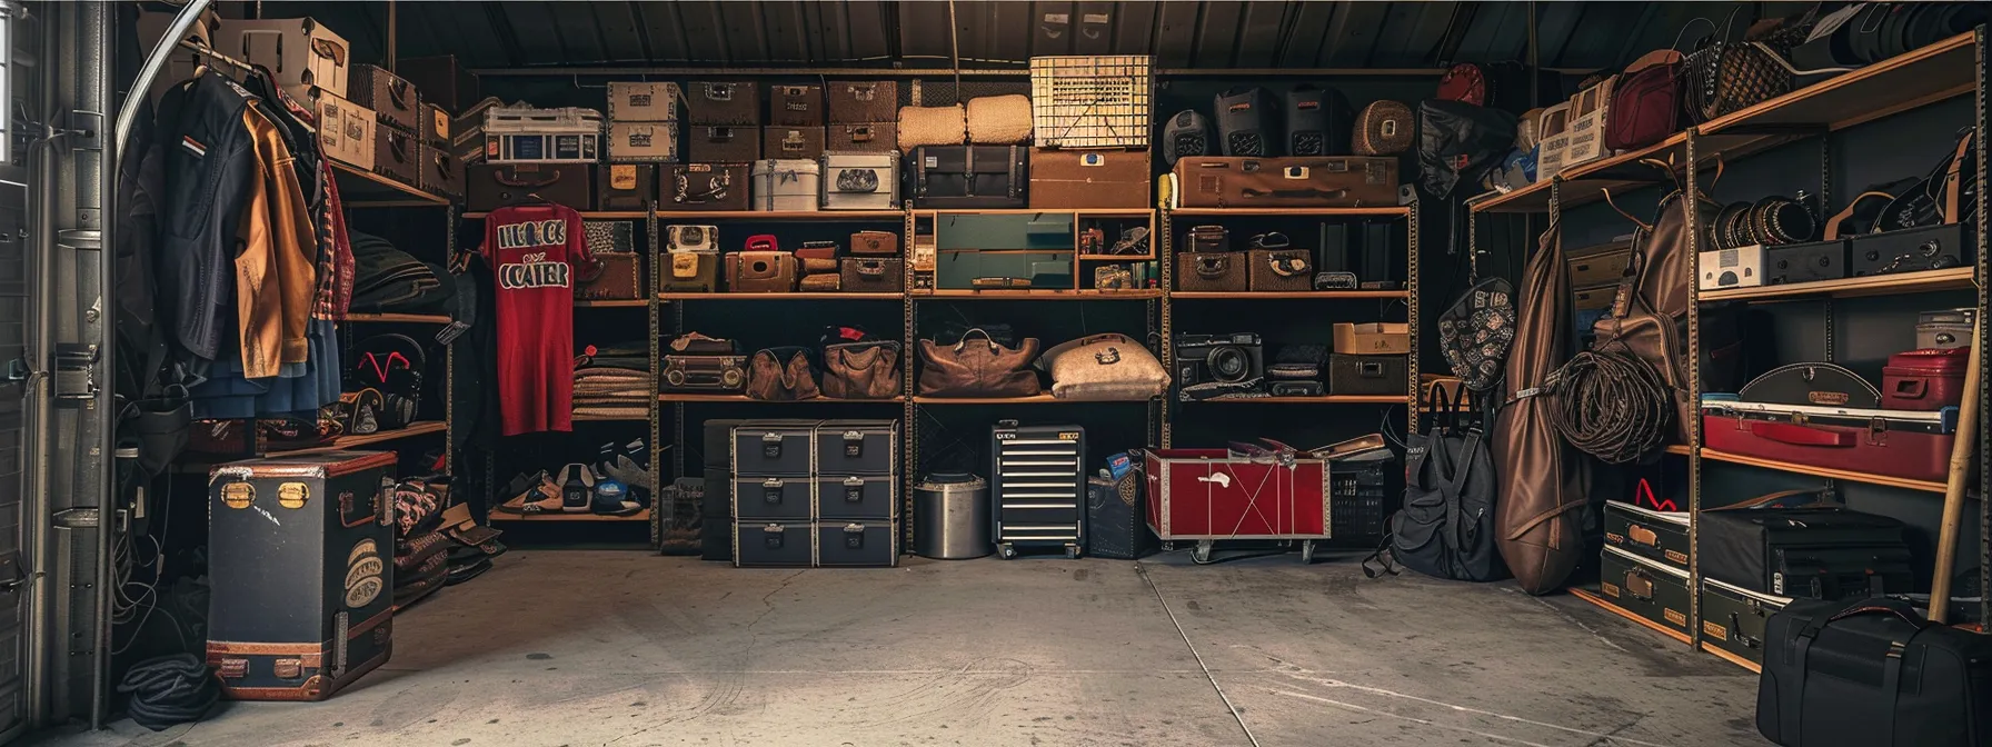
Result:
[[1534,396],[1570,359],[1570,275],[1564,273],[1562,227],[1542,233],[1542,247],[1522,273],[1508,392],[1518,396],[1494,420],[1494,536],[1516,584],[1528,594],[1564,586],[1584,556],[1584,508],[1592,470],[1552,424],[1556,402]]

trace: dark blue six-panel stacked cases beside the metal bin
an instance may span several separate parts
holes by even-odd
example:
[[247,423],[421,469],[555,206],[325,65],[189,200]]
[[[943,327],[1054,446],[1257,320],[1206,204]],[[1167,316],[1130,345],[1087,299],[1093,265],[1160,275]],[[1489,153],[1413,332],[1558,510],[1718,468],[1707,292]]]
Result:
[[898,564],[896,420],[731,428],[735,568]]

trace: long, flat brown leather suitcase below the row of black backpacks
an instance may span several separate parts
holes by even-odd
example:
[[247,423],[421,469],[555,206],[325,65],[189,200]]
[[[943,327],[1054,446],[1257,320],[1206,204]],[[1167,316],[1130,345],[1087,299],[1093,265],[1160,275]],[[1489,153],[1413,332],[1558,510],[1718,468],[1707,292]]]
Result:
[[1396,157],[1223,157],[1175,161],[1175,207],[1396,205]]

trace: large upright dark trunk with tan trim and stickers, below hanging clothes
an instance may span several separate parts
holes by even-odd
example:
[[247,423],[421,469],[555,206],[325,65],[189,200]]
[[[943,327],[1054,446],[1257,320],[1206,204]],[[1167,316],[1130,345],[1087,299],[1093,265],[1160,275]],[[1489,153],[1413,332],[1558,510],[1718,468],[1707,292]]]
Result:
[[319,701],[388,659],[392,490],[394,452],[213,468],[207,665],[225,695]]

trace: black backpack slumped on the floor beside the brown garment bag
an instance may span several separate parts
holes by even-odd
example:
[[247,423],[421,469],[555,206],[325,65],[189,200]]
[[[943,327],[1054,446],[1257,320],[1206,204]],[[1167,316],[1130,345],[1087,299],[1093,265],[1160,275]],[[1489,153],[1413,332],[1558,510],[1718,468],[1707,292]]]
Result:
[[[1404,508],[1390,516],[1382,548],[1390,562],[1424,576],[1458,582],[1508,578],[1508,566],[1494,548],[1494,458],[1480,422],[1464,422],[1474,412],[1468,392],[1454,408],[1444,388],[1430,388],[1432,430],[1410,436],[1404,452]],[[1440,416],[1444,414],[1444,416]],[[1492,420],[1492,418],[1486,418]],[[1363,574],[1378,572],[1363,562]]]

